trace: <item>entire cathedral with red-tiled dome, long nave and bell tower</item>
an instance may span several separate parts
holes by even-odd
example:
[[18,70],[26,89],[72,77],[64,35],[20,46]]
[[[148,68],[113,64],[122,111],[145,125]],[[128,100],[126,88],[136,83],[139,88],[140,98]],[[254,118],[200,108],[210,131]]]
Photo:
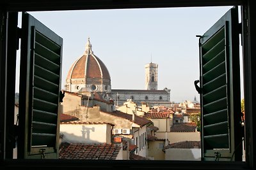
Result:
[[145,90],[111,89],[111,76],[104,62],[92,51],[90,38],[84,54],[70,66],[65,90],[86,94],[97,92],[102,99],[112,99],[116,106],[132,99],[138,105],[145,102],[149,106],[170,106],[170,89],[157,89],[157,64],[145,65]]

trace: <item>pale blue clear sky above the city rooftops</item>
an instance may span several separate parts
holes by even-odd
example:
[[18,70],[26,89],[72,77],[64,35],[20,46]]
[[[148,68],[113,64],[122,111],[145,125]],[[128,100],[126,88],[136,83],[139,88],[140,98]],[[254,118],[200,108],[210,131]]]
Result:
[[112,89],[145,89],[145,64],[153,62],[158,64],[158,89],[170,89],[170,101],[180,103],[194,97],[200,101],[193,83],[199,79],[196,35],[204,34],[230,8],[28,13],[63,38],[62,89],[70,66],[83,55],[90,38],[93,53],[108,68]]

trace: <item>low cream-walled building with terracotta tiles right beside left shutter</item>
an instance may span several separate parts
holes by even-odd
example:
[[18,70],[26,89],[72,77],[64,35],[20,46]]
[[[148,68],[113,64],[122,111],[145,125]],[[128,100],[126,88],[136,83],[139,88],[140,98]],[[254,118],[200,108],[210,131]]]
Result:
[[123,160],[122,146],[111,143],[113,124],[81,122],[61,114],[59,159]]

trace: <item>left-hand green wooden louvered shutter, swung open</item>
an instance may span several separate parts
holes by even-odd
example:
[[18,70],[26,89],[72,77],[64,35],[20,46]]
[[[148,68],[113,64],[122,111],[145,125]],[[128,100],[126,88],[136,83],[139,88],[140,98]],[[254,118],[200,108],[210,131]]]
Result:
[[58,159],[62,48],[60,36],[22,13],[18,158]]

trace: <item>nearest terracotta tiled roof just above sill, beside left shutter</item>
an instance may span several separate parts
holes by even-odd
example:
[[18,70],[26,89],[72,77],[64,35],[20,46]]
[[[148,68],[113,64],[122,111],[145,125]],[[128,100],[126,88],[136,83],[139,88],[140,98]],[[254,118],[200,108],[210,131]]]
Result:
[[113,144],[85,145],[82,143],[62,143],[59,159],[101,159],[115,160],[121,147]]

